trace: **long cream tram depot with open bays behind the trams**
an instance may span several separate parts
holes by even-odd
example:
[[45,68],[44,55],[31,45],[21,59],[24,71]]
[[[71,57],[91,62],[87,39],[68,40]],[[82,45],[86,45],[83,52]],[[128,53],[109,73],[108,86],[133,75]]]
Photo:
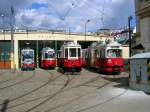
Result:
[[[75,41],[79,43],[105,41],[106,39],[113,40],[114,38],[108,35],[95,34],[75,34],[66,32],[54,31],[28,31],[19,30],[13,36],[14,53],[11,57],[11,33],[10,31],[0,32],[0,69],[10,69],[20,67],[20,52],[25,47],[30,47],[35,50],[35,62],[38,67],[39,53],[46,44],[55,50],[59,50],[64,41]],[[88,47],[88,46],[87,46]]]

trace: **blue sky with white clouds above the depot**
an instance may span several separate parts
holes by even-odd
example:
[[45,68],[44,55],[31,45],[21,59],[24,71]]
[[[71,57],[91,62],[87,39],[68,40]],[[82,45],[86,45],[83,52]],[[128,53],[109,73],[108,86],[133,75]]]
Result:
[[122,29],[127,27],[128,17],[135,16],[134,0],[0,0],[0,28],[10,26],[11,7],[15,27],[23,29]]

